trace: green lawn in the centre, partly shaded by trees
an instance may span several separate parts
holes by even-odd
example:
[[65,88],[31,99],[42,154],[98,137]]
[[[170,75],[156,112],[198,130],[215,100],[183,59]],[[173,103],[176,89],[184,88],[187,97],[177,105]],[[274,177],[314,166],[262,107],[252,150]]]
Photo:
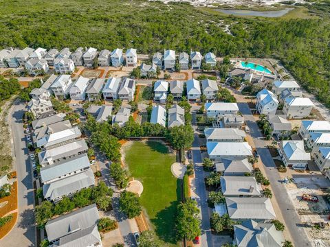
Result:
[[135,141],[126,150],[126,164],[131,176],[142,182],[141,203],[160,239],[173,246],[175,241],[175,213],[181,197],[180,181],[170,172],[175,154],[157,141]]

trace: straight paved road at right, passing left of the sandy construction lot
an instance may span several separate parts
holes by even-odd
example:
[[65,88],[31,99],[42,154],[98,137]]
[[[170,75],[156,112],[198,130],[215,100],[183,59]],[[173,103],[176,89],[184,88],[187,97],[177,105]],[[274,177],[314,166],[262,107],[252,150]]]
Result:
[[263,162],[263,165],[265,166],[265,172],[270,180],[270,183],[272,184],[274,197],[278,202],[278,206],[282,212],[285,224],[287,225],[289,233],[292,236],[294,246],[311,246],[311,243],[308,241],[307,235],[301,226],[302,222],[300,221],[299,215],[296,213],[292,201],[289,200],[287,189],[279,182],[281,177],[278,174],[278,171],[274,169],[275,163],[270,151],[266,148],[265,141],[260,139],[260,137],[263,137],[263,134],[261,134],[258,124],[256,124],[248,104],[239,103],[238,105],[246,124],[248,124],[248,127],[250,128],[251,137],[254,139],[256,150],[261,158],[261,161]]

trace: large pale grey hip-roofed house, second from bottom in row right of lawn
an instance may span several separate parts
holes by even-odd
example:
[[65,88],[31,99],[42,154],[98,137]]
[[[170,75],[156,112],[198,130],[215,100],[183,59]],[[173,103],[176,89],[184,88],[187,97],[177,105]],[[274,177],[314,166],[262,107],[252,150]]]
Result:
[[265,222],[276,219],[270,198],[225,198],[230,219]]

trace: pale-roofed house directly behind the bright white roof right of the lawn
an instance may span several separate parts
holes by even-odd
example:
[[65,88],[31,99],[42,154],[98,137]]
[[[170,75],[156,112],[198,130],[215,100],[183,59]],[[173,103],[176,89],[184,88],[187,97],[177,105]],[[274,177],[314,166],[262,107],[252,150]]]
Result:
[[246,134],[237,128],[205,128],[206,141],[236,141],[243,142]]

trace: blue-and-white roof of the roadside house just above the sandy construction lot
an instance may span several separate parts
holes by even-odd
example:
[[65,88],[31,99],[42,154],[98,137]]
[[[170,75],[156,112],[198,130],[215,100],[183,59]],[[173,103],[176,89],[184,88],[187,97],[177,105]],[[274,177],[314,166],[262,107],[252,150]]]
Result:
[[281,148],[289,161],[310,161],[311,154],[305,152],[304,141],[281,141]]

